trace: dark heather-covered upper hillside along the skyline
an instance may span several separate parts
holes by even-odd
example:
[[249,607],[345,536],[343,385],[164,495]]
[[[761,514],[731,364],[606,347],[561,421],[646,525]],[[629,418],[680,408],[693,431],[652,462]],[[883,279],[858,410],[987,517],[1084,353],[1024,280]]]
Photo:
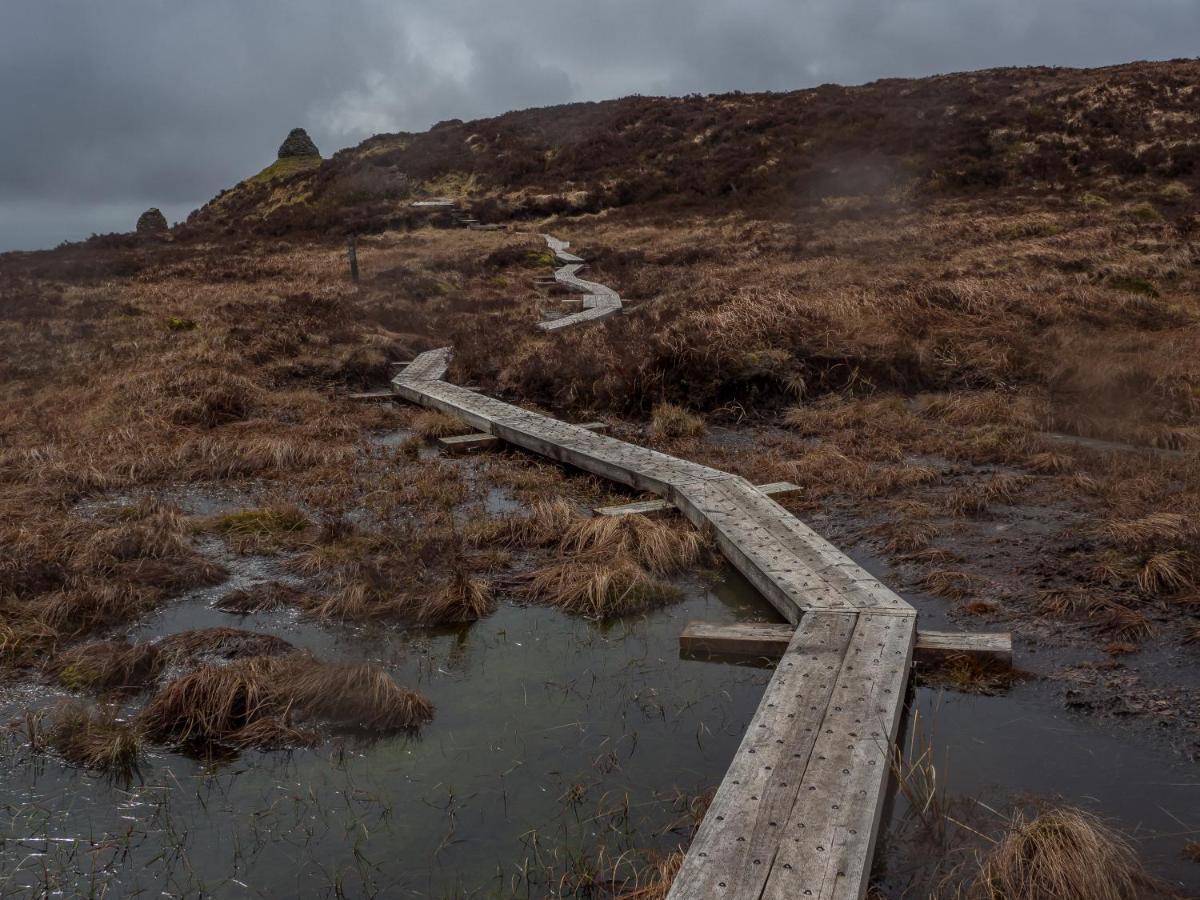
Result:
[[319,169],[242,182],[191,224],[372,230],[430,194],[485,218],[648,202],[788,216],[828,197],[1132,188],[1200,172],[1198,84],[1200,61],[1180,60],[527,109],[370,138]]

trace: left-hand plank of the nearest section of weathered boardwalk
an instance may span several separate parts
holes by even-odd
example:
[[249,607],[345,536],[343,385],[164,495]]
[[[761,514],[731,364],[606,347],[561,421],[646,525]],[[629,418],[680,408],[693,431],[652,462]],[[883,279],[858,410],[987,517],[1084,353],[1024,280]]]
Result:
[[853,613],[804,617],[704,814],[671,900],[761,894],[811,764],[854,619]]

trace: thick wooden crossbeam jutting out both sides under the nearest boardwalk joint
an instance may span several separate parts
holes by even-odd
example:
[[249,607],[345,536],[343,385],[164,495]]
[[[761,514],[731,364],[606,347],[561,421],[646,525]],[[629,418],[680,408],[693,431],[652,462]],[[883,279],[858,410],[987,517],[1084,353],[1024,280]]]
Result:
[[[787,623],[738,622],[718,625],[689,622],[679,635],[679,653],[685,656],[752,656],[779,659],[792,640]],[[985,662],[1010,666],[1013,636],[1007,631],[917,631],[913,656],[918,662],[937,665],[953,656],[971,656]]]

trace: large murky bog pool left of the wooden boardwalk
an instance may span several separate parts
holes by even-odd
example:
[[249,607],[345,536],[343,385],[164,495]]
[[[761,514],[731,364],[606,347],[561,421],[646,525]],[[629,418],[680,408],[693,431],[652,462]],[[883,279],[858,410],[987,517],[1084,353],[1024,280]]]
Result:
[[[691,796],[720,779],[768,674],[678,659],[689,618],[766,614],[738,582],[694,582],[683,602],[606,626],[502,606],[418,636],[230,617],[208,601],[169,606],[134,635],[236,624],[378,661],[437,704],[434,721],[415,739],[347,736],[224,764],[156,750],[128,787],[30,752],[14,728],[0,892],[544,896],[564,874],[594,872],[601,848],[607,866],[684,840]],[[5,718],[55,700],[42,686],[10,695]]]

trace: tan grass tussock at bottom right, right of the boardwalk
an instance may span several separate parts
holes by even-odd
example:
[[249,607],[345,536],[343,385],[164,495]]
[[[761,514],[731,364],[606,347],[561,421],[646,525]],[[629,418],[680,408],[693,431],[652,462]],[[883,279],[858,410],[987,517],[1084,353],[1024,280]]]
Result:
[[1129,844],[1084,810],[1051,808],[1030,817],[1013,814],[980,862],[972,900],[1139,900],[1169,896],[1138,860]]

